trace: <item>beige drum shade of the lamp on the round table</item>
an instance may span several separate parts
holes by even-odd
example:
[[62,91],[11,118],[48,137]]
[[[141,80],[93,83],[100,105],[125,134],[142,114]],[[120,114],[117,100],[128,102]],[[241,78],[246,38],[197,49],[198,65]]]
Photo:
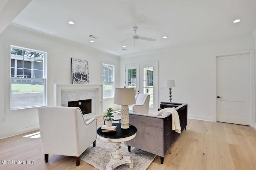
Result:
[[129,105],[135,104],[134,88],[116,88],[114,104]]

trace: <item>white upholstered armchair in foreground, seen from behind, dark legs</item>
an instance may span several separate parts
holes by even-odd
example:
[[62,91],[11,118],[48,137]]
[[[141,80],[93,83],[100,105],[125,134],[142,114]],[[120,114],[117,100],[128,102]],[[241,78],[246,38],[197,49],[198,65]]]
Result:
[[85,122],[79,107],[40,107],[38,116],[45,162],[49,154],[75,156],[79,166],[80,155],[96,146],[97,119]]

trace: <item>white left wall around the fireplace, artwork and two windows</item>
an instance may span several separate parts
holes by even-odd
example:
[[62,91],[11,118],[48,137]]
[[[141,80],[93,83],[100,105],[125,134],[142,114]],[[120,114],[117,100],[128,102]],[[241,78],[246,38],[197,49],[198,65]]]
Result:
[[[119,70],[118,56],[90,47],[11,24],[0,34],[0,138],[17,135],[39,128],[37,108],[10,110],[10,45],[48,52],[47,99],[53,106],[53,84],[71,84],[71,57],[84,59],[89,64],[90,84],[102,84],[101,64],[108,62]],[[119,73],[115,72],[115,86]],[[103,100],[103,109],[117,106],[113,98]]]

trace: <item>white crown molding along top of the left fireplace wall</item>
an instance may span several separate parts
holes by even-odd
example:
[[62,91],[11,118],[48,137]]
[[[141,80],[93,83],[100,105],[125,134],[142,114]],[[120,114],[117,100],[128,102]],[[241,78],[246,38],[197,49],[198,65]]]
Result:
[[54,35],[43,33],[41,31],[37,31],[35,29],[24,27],[24,26],[18,25],[16,23],[10,23],[10,25],[7,28],[8,29],[13,29],[13,30],[16,30],[16,31],[20,31],[20,32],[23,32],[23,33],[28,33],[30,35],[34,35],[34,36],[41,37],[41,38],[44,38],[44,39],[49,39],[49,40],[52,40],[52,41],[56,41],[58,43],[63,43],[63,44],[66,44],[66,45],[72,45],[72,46],[78,47],[80,49],[85,49],[87,51],[91,51],[91,52],[98,53],[98,54],[101,54],[101,55],[106,55],[108,57],[112,57],[112,58],[115,58],[115,59],[119,59],[118,55],[114,55],[114,54],[111,54],[111,53],[107,53],[105,51],[94,49],[92,47],[88,47],[86,45],[76,43],[74,41],[70,41],[70,40],[67,40],[67,39],[56,37]]

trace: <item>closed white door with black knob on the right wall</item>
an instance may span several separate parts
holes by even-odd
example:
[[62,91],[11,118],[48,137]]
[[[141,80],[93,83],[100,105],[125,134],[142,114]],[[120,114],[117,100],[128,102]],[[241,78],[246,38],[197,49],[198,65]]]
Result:
[[217,57],[217,121],[250,125],[250,55]]

